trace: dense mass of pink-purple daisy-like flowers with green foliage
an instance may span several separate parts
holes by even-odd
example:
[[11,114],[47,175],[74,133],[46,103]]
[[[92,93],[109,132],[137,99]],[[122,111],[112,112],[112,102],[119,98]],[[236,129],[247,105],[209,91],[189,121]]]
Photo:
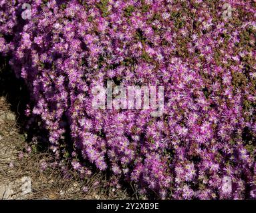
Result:
[[[251,0],[0,1],[29,124],[81,175],[110,170],[158,198],[256,198],[255,47]],[[93,109],[107,81],[163,86],[164,113]]]

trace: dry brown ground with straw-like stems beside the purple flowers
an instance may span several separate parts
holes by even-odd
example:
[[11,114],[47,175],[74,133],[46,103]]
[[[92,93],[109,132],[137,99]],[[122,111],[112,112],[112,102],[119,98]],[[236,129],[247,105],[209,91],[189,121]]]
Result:
[[[21,134],[17,116],[0,97],[0,199],[128,199],[126,190],[111,188],[104,174],[80,180],[73,173],[63,178],[59,168],[40,170],[41,160],[50,160],[49,152],[21,153],[26,134]],[[31,181],[31,191],[29,184]],[[100,182],[96,186],[96,182]],[[88,192],[83,188],[87,187]]]

